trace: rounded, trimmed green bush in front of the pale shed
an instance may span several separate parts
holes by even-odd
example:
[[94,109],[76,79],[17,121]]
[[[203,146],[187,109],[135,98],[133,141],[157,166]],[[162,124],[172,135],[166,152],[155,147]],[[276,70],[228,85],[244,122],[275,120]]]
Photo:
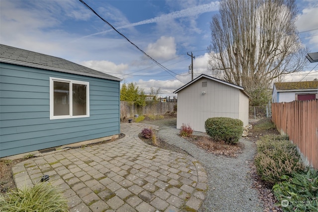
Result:
[[205,121],[205,131],[215,141],[237,143],[243,134],[243,122],[239,119],[214,117]]

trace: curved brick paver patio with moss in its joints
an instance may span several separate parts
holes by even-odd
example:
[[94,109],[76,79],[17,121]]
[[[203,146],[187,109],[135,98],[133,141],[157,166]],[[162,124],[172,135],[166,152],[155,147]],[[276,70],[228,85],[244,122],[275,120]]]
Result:
[[193,157],[146,144],[138,138],[151,126],[123,123],[124,138],[52,152],[12,168],[18,188],[47,174],[64,190],[71,212],[197,211],[207,174]]

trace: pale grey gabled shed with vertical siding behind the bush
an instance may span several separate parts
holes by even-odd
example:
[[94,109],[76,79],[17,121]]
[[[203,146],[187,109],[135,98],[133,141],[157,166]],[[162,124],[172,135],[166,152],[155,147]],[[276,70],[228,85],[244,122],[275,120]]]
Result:
[[212,117],[240,119],[248,125],[249,97],[244,88],[201,74],[175,90],[177,101],[177,129],[189,124],[194,131],[205,132],[204,123]]

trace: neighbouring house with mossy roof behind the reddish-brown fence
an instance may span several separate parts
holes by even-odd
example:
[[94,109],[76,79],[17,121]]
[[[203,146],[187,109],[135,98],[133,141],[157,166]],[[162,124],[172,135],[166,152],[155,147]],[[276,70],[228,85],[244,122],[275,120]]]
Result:
[[318,98],[318,81],[276,82],[273,87],[273,102],[292,102]]

